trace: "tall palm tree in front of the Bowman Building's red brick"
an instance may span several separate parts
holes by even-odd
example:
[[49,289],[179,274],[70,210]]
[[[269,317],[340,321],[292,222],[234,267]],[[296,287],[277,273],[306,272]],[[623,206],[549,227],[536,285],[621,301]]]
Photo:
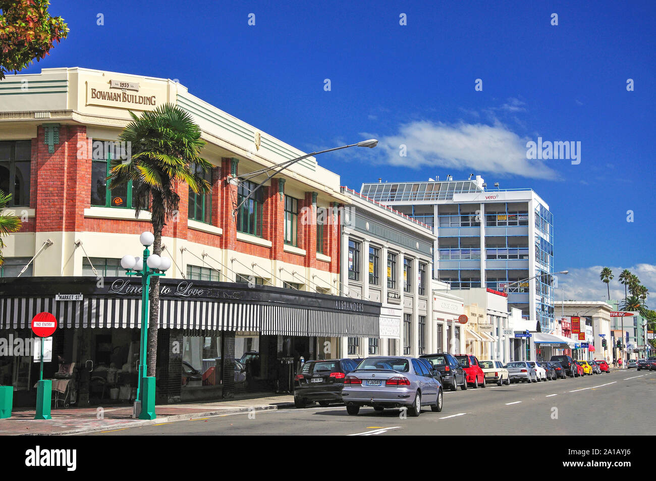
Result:
[[[119,141],[130,142],[132,158],[117,161],[110,171],[110,189],[132,180],[135,216],[148,210],[153,224],[154,254],[161,254],[161,236],[166,221],[178,212],[176,190],[184,182],[196,194],[209,192],[203,178],[212,165],[201,157],[201,129],[188,112],[173,104],[163,104],[141,117],[130,112],[131,121]],[[185,194],[186,195],[186,194]],[[148,325],[148,376],[155,376],[157,324],[159,321],[159,277],[151,280],[150,324]]]

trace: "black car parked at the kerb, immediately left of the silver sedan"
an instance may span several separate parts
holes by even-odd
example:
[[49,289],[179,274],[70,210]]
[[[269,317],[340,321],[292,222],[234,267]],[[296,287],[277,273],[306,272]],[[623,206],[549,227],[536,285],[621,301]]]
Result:
[[307,361],[294,378],[294,404],[305,408],[311,402],[328,406],[342,402],[344,377],[358,366],[354,359]]

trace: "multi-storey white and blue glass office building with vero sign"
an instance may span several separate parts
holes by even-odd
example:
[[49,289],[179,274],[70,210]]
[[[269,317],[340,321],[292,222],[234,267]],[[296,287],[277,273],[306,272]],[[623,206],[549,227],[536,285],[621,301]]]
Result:
[[506,291],[509,307],[554,330],[554,222],[533,190],[488,190],[480,176],[448,176],[365,183],[361,194],[434,229],[434,278],[452,289]]

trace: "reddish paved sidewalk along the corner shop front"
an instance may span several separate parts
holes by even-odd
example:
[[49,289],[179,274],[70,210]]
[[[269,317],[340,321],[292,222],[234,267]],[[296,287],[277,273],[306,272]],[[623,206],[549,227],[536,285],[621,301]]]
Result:
[[[260,396],[262,396],[260,394]],[[81,434],[170,423],[195,417],[208,417],[230,413],[247,413],[250,409],[293,408],[294,396],[268,395],[266,397],[239,396],[237,399],[199,404],[164,404],[155,406],[157,419],[142,421],[132,419],[132,406],[104,408],[52,409],[52,419],[37,421],[35,411],[13,411],[9,419],[0,419],[0,436]],[[20,408],[19,408],[20,409]]]

